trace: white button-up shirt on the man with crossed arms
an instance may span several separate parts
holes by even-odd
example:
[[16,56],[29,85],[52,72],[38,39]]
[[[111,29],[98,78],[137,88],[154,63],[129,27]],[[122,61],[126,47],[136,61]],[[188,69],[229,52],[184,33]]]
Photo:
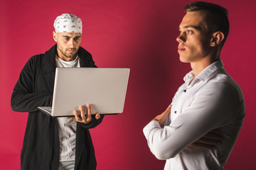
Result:
[[[245,117],[245,102],[238,84],[219,60],[197,77],[184,77],[171,102],[171,113],[161,128],[156,120],[144,128],[151,152],[166,159],[164,170],[224,169]],[[188,147],[211,130],[223,137],[216,149]]]

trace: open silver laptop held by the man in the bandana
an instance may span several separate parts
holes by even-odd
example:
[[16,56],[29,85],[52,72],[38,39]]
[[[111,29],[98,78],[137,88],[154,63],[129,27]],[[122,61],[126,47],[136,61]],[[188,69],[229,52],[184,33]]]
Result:
[[[130,69],[57,67],[53,107],[38,107],[55,117],[72,116],[79,106],[90,103],[92,114],[118,114],[124,100]],[[85,109],[86,111],[86,109]]]

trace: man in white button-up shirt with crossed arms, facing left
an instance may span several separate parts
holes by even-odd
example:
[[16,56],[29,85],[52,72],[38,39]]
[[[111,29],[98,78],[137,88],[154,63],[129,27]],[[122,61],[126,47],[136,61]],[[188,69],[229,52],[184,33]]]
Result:
[[151,152],[166,160],[165,170],[224,169],[245,117],[242,91],[220,60],[228,11],[201,1],[185,10],[176,40],[181,62],[193,70],[143,131]]

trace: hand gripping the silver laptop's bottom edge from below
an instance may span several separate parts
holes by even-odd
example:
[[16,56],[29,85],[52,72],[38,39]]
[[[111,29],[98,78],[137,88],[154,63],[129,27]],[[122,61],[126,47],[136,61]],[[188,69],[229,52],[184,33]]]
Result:
[[[92,111],[91,111],[91,106],[90,104],[87,104],[87,114],[85,115],[85,108],[84,106],[79,106],[80,109],[80,114],[78,111],[74,111],[74,117],[68,117],[72,120],[75,120],[79,123],[90,123],[92,121]],[[96,113],[95,118],[98,120],[100,118],[100,114]]]

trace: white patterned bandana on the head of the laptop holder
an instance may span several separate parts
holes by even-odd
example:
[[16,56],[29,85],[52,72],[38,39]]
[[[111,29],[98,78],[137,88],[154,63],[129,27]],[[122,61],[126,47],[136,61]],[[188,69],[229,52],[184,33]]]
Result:
[[55,33],[82,33],[82,20],[71,13],[58,16],[53,26]]

